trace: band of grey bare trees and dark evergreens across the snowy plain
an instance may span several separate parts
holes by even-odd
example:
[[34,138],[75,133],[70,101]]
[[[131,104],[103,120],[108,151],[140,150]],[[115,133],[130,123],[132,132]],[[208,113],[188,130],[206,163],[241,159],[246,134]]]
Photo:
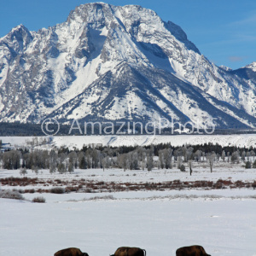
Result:
[[[153,168],[172,169],[175,165],[181,171],[193,162],[207,162],[210,170],[215,162],[227,161],[232,164],[244,162],[247,168],[256,168],[255,148],[222,147],[218,144],[183,145],[173,147],[171,143],[161,143],[145,147],[98,147],[84,146],[80,150],[61,147],[52,150],[20,148],[0,154],[0,164],[4,169],[26,169],[35,172],[49,169],[49,172],[74,172],[74,169],[122,168],[126,170],[148,170]],[[186,163],[186,164],[184,164]]]

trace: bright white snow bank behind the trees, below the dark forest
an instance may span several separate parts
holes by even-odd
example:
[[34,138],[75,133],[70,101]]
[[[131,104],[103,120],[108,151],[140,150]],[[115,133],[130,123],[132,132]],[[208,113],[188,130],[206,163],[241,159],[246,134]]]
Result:
[[[47,137],[38,137],[38,143]],[[28,142],[32,142],[33,137],[0,137],[3,143],[11,143],[12,146],[26,146]],[[65,136],[51,137],[50,144],[40,146],[39,148],[52,148],[54,146],[65,146],[73,149],[82,148],[83,145],[99,144],[102,146],[119,147],[125,146],[147,146],[159,143],[172,143],[172,146],[182,146],[185,144],[204,144],[218,143],[222,146],[237,147],[256,147],[256,134],[241,135],[139,135],[139,136]]]

